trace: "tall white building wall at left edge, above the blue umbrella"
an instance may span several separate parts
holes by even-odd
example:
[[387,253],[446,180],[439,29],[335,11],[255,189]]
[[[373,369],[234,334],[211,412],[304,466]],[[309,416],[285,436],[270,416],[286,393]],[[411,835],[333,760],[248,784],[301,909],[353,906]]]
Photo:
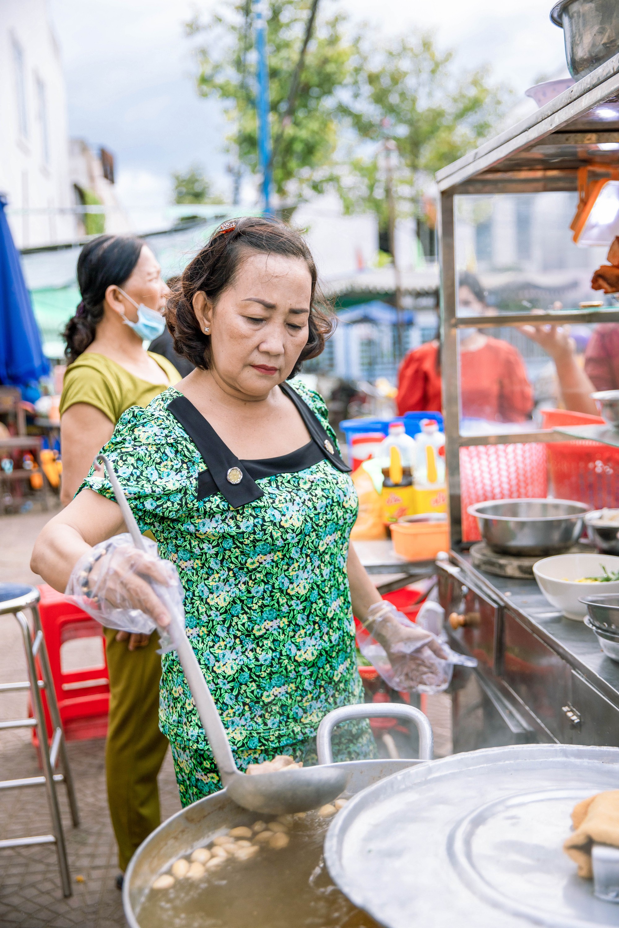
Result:
[[0,88],[0,191],[16,244],[71,240],[75,219],[58,213],[72,205],[66,93],[46,0],[0,0]]

